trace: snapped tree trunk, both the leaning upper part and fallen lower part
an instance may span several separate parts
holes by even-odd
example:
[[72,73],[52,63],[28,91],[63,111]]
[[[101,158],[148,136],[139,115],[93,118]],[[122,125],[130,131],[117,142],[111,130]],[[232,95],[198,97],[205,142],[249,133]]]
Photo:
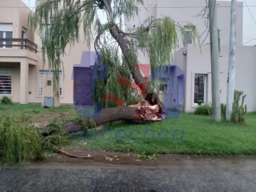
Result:
[[[159,96],[154,93],[153,90],[149,90],[149,84],[147,79],[143,77],[139,68],[135,65],[138,64],[137,55],[135,55],[128,46],[128,43],[124,36],[122,36],[122,31],[118,28],[117,24],[113,21],[113,13],[110,6],[110,2],[107,0],[102,0],[102,3],[106,7],[107,19],[109,23],[109,30],[112,37],[117,41],[119,47],[122,50],[124,59],[126,60],[129,71],[134,79],[134,82],[140,89],[144,100],[148,102],[149,105],[137,104],[131,107],[114,107],[102,109],[100,111],[99,117],[92,119],[84,119],[87,128],[98,127],[100,125],[107,124],[109,122],[124,120],[128,122],[136,123],[149,123],[160,121],[165,118],[163,112],[163,103],[159,100]],[[97,41],[98,38],[96,38]],[[144,74],[146,76],[146,74]],[[145,104],[145,103],[144,103]],[[82,130],[83,124],[80,119],[75,119],[69,122],[65,122],[63,125],[65,133],[71,134]],[[43,133],[47,135],[48,133]]]

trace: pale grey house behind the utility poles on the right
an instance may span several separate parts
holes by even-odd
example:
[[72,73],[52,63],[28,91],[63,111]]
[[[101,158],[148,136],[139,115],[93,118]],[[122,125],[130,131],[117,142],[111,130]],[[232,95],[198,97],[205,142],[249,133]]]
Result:
[[[206,38],[206,16],[196,17],[203,6],[205,0],[196,1],[150,1],[146,4],[146,9],[141,8],[139,18],[127,22],[127,26],[139,26],[144,19],[149,16],[162,18],[169,16],[174,21],[186,28],[186,23],[191,22],[201,36],[201,42]],[[146,3],[146,1],[145,1]],[[227,80],[228,80],[228,58],[230,41],[230,2],[218,1],[217,20],[220,33],[220,101],[226,102]],[[256,111],[256,47],[242,46],[242,2],[238,2],[237,8],[237,56],[235,89],[242,90],[247,95],[245,104],[247,111]],[[205,32],[206,31],[206,32]],[[181,41],[179,34],[180,49],[171,58],[170,63],[166,63],[166,72],[162,80],[165,82],[167,91],[164,103],[167,107],[178,108],[184,112],[193,112],[198,107],[198,100],[204,100],[210,104],[211,98],[211,67],[210,67],[210,36],[201,46],[193,45],[186,34],[187,41]],[[139,53],[139,61],[142,64],[150,63],[147,55]],[[182,71],[182,73],[181,73]],[[183,75],[184,74],[184,75]],[[185,83],[184,83],[185,82]],[[185,84],[185,85],[184,85]],[[185,87],[185,88],[184,88]],[[181,107],[182,106],[182,107]]]

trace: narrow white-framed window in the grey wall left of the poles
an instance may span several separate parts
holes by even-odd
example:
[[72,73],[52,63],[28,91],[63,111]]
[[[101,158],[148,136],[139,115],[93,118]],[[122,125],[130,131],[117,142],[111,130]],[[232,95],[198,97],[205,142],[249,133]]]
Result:
[[203,74],[195,74],[194,103],[198,104],[198,100],[206,102],[206,75]]

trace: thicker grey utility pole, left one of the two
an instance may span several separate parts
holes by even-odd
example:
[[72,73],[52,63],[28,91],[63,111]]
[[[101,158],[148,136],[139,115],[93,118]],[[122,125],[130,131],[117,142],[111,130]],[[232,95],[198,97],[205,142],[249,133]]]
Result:
[[219,43],[217,26],[216,0],[209,0],[209,20],[210,20],[210,61],[212,77],[212,105],[213,120],[220,122],[220,79],[219,79]]

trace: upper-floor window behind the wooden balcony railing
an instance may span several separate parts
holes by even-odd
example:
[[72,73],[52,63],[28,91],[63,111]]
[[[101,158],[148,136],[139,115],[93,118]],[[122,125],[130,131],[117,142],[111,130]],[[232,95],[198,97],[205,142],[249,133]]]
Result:
[[[0,23],[0,38],[13,38],[12,24]],[[0,48],[12,48],[12,41],[0,41]]]

